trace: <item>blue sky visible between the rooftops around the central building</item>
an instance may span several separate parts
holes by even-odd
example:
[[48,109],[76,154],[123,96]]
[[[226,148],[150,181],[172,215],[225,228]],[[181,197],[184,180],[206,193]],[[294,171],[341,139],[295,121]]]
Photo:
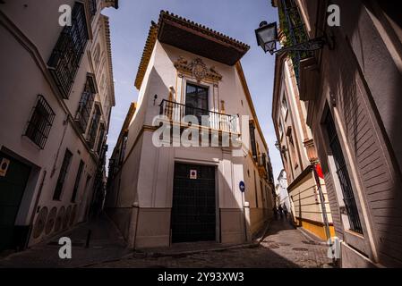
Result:
[[272,124],[272,88],[275,56],[264,54],[257,46],[254,29],[261,21],[278,21],[278,11],[270,0],[119,0],[119,8],[108,8],[115,78],[115,107],[112,109],[107,136],[109,157],[125,115],[138,90],[134,80],[142,50],[150,29],[150,21],[158,22],[160,10],[175,13],[250,46],[241,60],[247,85],[252,95],[262,132],[269,146],[275,180],[282,170],[276,135]]

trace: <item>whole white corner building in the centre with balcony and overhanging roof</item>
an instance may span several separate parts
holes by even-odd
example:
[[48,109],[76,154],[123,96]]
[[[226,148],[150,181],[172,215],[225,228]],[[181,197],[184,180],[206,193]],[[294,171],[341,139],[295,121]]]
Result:
[[[275,190],[268,147],[239,62],[248,48],[163,11],[150,27],[135,80],[138,102],[109,164],[107,213],[131,247],[239,243],[269,220]],[[153,140],[158,115],[178,130],[167,131],[163,147]],[[206,118],[192,124],[201,135],[191,139],[198,143],[203,134],[209,144],[181,144],[189,128],[183,115]],[[223,146],[227,136],[240,136],[241,144]]]

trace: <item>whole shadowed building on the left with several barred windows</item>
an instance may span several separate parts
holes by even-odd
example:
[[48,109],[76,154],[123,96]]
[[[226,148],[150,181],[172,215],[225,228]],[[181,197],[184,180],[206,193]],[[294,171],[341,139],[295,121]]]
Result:
[[[59,24],[65,5],[71,26]],[[0,4],[0,250],[85,221],[103,188],[115,105],[109,24],[100,13],[109,6],[117,1]]]

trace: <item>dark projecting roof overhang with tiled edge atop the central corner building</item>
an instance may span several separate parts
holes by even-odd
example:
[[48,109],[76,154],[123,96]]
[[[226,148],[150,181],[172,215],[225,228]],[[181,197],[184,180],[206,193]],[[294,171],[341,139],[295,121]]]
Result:
[[158,41],[228,65],[237,63],[250,48],[234,38],[165,11],[159,15]]

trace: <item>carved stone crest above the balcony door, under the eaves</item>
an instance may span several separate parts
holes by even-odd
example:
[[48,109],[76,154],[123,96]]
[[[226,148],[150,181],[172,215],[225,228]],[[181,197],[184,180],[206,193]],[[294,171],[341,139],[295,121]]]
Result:
[[222,76],[215,70],[215,67],[208,68],[201,58],[194,59],[191,63],[180,56],[174,63],[177,71],[192,75],[197,81],[201,80],[222,80]]

